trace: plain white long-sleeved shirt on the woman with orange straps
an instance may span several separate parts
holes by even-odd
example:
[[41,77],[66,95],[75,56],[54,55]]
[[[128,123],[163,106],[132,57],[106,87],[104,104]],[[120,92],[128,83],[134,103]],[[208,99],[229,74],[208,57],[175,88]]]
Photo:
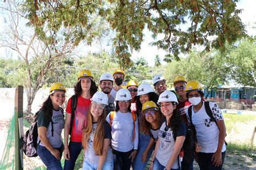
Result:
[[[110,114],[107,115],[106,121],[110,124]],[[111,143],[114,150],[128,152],[132,149],[138,149],[138,118],[136,117],[135,121],[135,138],[133,141],[134,126],[131,112],[115,112],[112,120],[111,130]]]

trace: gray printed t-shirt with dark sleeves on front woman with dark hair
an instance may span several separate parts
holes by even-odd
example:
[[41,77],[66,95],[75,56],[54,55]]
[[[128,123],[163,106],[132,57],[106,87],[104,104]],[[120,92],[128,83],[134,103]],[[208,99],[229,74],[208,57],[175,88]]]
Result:
[[[156,158],[160,162],[161,165],[166,166],[174,149],[174,138],[173,138],[173,131],[169,128],[165,131],[166,127],[166,118],[164,117],[160,123],[158,138],[160,139],[160,145],[157,148],[157,155]],[[163,138],[163,133],[166,133],[166,136]],[[186,136],[186,126],[181,121],[179,129],[177,130],[177,137],[179,136]],[[178,159],[175,159],[172,167],[173,169],[178,168]]]

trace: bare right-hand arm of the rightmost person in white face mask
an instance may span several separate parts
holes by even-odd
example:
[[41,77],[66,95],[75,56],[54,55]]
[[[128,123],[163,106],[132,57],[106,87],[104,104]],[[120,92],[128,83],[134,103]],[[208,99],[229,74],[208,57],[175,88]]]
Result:
[[226,126],[224,120],[218,121],[217,125],[219,127],[219,141],[217,151],[212,155],[212,164],[215,166],[221,165],[221,150],[225,141],[226,136]]

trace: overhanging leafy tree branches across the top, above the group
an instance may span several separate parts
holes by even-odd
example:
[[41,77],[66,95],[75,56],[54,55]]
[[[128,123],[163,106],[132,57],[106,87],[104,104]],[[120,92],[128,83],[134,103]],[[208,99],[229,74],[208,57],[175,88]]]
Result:
[[[91,16],[98,15],[116,31],[113,39],[119,65],[129,66],[130,51],[138,51],[143,41],[143,30],[153,33],[153,38],[164,34],[163,39],[152,42],[164,49],[169,60],[178,60],[179,53],[187,53],[193,45],[224,51],[225,44],[246,37],[245,25],[239,18],[234,0],[205,1],[25,1],[30,24],[36,33],[44,37],[42,29],[48,27],[53,35],[60,29],[73,27],[66,38],[75,38],[77,45],[86,39],[91,44],[95,32],[91,26]],[[186,29],[183,29],[185,25]],[[85,31],[85,30],[86,31]],[[53,41],[56,36],[53,36]],[[172,54],[172,55],[171,55]]]

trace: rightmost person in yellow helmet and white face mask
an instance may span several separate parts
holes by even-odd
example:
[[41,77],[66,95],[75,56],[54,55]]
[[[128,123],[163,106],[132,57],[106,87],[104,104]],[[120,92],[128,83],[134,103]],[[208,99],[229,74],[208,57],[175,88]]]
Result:
[[[226,127],[220,108],[216,103],[202,100],[204,93],[198,81],[187,83],[186,96],[192,104],[186,111],[188,121],[194,125],[198,145],[201,147],[198,153],[198,165],[200,169],[221,169],[226,151]],[[213,118],[206,112],[208,107]]]

